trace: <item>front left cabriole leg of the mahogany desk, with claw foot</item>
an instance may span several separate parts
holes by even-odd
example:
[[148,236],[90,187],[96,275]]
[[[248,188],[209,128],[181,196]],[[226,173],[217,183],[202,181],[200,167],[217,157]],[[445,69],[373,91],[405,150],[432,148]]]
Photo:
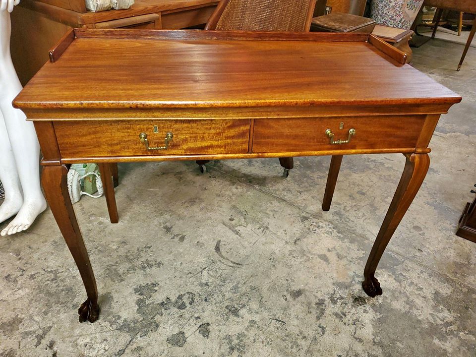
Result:
[[73,256],[83,280],[88,298],[79,307],[79,322],[94,322],[99,317],[98,289],[88,251],[79,231],[66,181],[68,170],[64,165],[46,166],[42,173],[45,196],[61,234]]

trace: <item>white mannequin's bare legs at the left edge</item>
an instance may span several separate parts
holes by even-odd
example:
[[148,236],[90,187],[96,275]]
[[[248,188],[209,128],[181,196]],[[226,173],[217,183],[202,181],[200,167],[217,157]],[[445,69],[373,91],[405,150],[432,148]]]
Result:
[[[9,155],[3,155],[2,151],[0,165],[5,165],[5,169],[0,166],[0,170],[5,173],[1,174],[1,181],[4,183],[5,198],[10,195],[5,183],[8,182],[8,185],[10,182],[15,182],[15,177],[18,178],[16,182],[20,181],[21,191],[23,192],[22,200],[20,195],[20,209],[15,218],[1,231],[1,236],[26,230],[35,218],[46,209],[46,201],[40,187],[40,146],[35,128],[31,122],[25,120],[23,112],[14,109],[11,105],[15,96],[21,91],[21,84],[10,57],[10,32],[10,14],[7,11],[0,10],[0,112],[4,123],[0,126],[0,132],[4,130],[3,127],[6,127],[11,151],[13,152],[14,166],[16,167],[16,170],[13,170],[11,156],[8,159]],[[6,159],[3,159],[3,157],[6,157]],[[5,176],[6,182],[3,181],[3,176]],[[14,185],[12,186],[14,187]],[[16,195],[15,200],[18,202],[18,195],[13,192],[11,197]],[[2,206],[8,202],[10,201],[5,199]],[[9,205],[13,207],[14,204],[9,203]],[[18,203],[16,203],[16,206],[18,206]],[[4,211],[7,210],[8,206],[5,207]]]

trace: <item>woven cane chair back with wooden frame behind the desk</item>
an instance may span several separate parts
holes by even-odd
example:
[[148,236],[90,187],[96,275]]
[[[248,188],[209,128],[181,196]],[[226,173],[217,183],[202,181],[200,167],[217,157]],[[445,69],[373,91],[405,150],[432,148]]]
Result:
[[221,0],[207,30],[309,31],[316,0]]

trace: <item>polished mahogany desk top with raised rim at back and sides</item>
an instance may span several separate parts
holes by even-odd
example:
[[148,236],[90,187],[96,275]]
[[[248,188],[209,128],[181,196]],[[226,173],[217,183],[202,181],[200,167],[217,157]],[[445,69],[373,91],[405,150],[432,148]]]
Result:
[[421,105],[461,100],[403,65],[402,52],[366,34],[78,29],[74,34],[59,59],[45,64],[18,95],[18,108]]

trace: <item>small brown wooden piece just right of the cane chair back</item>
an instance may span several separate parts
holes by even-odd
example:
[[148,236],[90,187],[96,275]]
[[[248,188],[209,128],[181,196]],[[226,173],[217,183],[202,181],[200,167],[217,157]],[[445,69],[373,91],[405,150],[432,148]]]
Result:
[[311,31],[370,33],[373,31],[375,24],[376,21],[371,18],[332,12],[328,15],[314,17]]

